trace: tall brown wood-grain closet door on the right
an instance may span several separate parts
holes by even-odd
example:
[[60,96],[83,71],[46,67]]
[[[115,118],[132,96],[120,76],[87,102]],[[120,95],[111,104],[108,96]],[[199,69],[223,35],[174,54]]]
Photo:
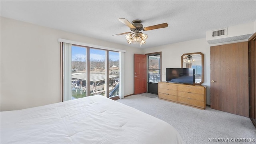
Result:
[[248,42],[211,46],[211,108],[249,116]]

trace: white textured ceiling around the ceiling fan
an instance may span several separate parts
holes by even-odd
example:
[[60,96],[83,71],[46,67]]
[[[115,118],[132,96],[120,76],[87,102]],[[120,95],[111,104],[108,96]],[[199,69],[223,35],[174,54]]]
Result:
[[142,20],[144,27],[167,22],[167,28],[142,31],[148,34],[146,44],[130,44],[150,48],[198,38],[206,31],[256,20],[256,1],[4,1],[1,16],[49,28],[56,28],[118,44],[126,43],[130,28],[118,21]]

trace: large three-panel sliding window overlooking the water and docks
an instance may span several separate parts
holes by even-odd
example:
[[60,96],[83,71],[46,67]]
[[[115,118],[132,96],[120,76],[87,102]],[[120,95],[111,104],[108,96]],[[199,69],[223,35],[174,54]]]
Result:
[[96,94],[123,98],[122,52],[62,43],[61,53],[62,101]]

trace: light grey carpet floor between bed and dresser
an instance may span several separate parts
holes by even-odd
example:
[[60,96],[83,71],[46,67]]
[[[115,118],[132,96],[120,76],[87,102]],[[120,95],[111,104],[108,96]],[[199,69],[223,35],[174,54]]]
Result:
[[[255,144],[250,118],[206,107],[205,110],[140,94],[116,100],[171,124],[187,144]],[[252,142],[249,142],[252,141]]]

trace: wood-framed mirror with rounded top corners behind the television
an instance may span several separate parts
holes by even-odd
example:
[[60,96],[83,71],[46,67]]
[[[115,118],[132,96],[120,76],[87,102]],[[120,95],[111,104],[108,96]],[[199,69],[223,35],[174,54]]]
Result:
[[196,71],[195,84],[204,82],[204,54],[201,52],[183,54],[181,56],[181,68],[194,68]]

